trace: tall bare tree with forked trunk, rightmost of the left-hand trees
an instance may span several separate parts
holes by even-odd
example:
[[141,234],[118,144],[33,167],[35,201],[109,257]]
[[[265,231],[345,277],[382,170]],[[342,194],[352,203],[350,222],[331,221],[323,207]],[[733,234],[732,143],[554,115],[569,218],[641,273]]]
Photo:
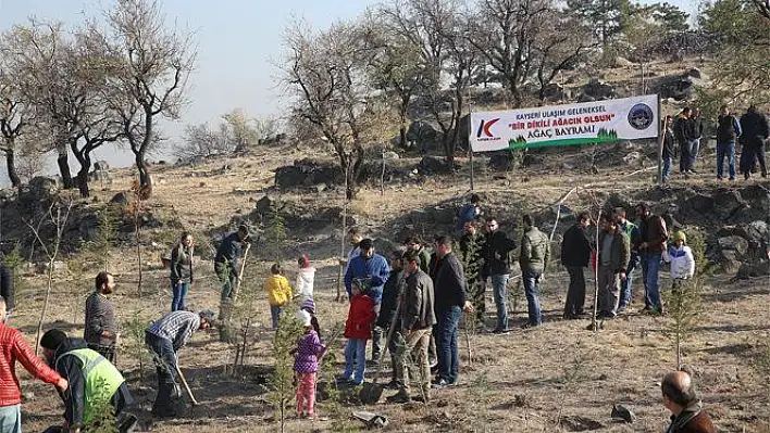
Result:
[[117,0],[107,17],[117,62],[110,104],[134,153],[142,193],[149,196],[146,156],[158,143],[158,117],[178,118],[196,49],[190,35],[166,28],[158,0]]

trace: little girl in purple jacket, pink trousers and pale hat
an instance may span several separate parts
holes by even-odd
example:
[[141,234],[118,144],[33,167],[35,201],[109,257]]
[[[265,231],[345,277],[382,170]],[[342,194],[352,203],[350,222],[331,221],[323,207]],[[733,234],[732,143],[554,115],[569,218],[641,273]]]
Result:
[[319,334],[311,323],[310,313],[300,309],[297,318],[305,327],[305,335],[297,342],[297,348],[291,351],[294,358],[294,372],[297,380],[297,417],[306,412],[308,418],[315,418],[315,381],[319,373],[319,357],[326,347],[321,344]]

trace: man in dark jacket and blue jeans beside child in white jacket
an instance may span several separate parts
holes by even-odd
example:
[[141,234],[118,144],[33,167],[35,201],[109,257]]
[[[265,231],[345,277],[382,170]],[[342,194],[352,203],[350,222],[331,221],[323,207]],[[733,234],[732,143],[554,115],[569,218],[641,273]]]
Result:
[[645,307],[642,313],[662,314],[663,305],[660,301],[658,272],[669,233],[663,218],[653,215],[647,203],[636,205],[636,215],[639,216],[639,243],[636,249],[642,259],[642,277],[645,289]]

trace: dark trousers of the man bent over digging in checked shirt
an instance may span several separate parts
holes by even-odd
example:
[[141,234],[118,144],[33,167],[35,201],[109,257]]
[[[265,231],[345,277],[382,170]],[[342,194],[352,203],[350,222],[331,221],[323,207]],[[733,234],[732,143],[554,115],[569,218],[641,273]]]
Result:
[[175,405],[183,404],[176,373],[176,352],[169,339],[149,332],[145,333],[145,343],[152,352],[158,373],[158,396],[152,405],[157,415],[175,415]]

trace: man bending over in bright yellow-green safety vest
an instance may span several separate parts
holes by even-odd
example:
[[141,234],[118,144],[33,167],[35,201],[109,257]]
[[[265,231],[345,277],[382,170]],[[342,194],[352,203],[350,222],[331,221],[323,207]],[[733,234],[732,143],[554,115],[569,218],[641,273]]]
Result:
[[[47,331],[40,340],[48,365],[70,383],[61,393],[64,400],[64,425],[60,431],[79,432],[96,428],[104,420],[107,406],[112,406],[119,432],[129,432],[136,417],[125,413],[134,402],[123,375],[98,352],[88,348],[82,339],[70,339],[59,330]],[[54,432],[55,428],[47,430]]]

